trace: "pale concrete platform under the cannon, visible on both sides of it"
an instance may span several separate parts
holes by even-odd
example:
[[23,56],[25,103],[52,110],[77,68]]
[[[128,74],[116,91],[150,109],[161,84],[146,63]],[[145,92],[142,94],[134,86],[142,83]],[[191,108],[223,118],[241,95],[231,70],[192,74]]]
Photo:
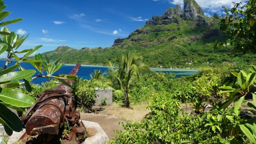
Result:
[[[86,138],[82,144],[104,144],[104,142],[108,140],[107,134],[97,122],[82,120],[82,123],[86,129],[93,134],[93,136]],[[19,138],[25,132],[25,129],[23,129],[21,132],[13,132],[12,136],[10,136],[10,139],[8,140],[8,144],[14,144],[15,142],[18,142]]]

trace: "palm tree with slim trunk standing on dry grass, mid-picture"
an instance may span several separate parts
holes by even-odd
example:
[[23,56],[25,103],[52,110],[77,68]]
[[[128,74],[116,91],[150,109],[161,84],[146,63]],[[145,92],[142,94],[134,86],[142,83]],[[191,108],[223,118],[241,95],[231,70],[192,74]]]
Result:
[[128,52],[118,59],[117,68],[114,68],[111,62],[109,63],[110,69],[107,74],[112,82],[112,87],[124,91],[124,106],[129,107],[129,88],[140,80],[142,73],[149,73],[150,69],[142,63],[142,56],[136,56],[132,52]]

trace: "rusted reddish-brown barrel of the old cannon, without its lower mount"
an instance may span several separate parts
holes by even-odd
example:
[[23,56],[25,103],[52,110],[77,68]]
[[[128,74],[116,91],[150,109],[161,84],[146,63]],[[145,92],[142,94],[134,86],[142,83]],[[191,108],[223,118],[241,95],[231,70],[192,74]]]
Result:
[[[81,64],[77,63],[76,66],[69,73],[76,76]],[[74,83],[73,80],[66,80],[70,85]],[[28,114],[33,108],[30,108],[25,115],[26,134],[33,136],[36,134],[58,134],[59,128],[64,125],[65,118],[72,124],[78,123],[80,113],[75,111],[74,95],[71,88],[65,84],[60,84],[54,90],[45,90],[39,94],[40,97],[36,101],[38,108],[34,114],[28,119]]]

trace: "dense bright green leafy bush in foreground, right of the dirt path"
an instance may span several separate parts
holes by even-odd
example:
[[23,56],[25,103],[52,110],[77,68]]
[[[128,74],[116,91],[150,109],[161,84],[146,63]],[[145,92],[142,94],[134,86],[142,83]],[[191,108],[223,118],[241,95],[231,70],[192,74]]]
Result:
[[232,130],[241,121],[239,118],[235,122],[231,120],[230,117],[234,116],[232,111],[222,112],[222,115],[213,111],[203,117],[180,112],[179,101],[170,96],[157,96],[150,101],[148,108],[152,112],[142,122],[122,123],[125,131],[116,131],[116,138],[108,143],[219,144],[235,138],[229,136],[227,129],[231,127]]

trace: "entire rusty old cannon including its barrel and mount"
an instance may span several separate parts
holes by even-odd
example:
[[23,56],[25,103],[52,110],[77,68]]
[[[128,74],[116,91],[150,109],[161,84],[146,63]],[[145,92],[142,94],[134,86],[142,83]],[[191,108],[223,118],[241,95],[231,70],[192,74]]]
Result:
[[[77,63],[69,75],[76,76],[81,64]],[[66,80],[70,85],[73,80]],[[26,132],[21,136],[22,142],[31,140],[31,136],[37,136],[40,143],[47,143],[57,136],[65,121],[70,124],[68,138],[62,140],[62,144],[77,144],[76,134],[82,134],[86,128],[80,122],[80,113],[75,110],[74,94],[66,84],[60,84],[54,90],[45,90],[39,94],[35,104],[21,118]]]

